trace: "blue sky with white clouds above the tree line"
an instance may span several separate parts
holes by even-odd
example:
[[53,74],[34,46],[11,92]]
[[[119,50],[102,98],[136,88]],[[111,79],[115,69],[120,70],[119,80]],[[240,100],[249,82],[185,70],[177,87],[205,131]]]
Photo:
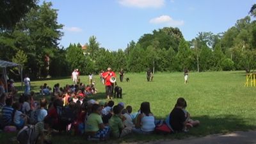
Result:
[[[49,2],[49,0],[47,0]],[[256,0],[51,0],[64,24],[60,45],[88,43],[96,36],[100,47],[111,51],[145,33],[177,27],[186,40],[198,32],[221,33],[246,15]],[[40,1],[42,3],[42,1]]]

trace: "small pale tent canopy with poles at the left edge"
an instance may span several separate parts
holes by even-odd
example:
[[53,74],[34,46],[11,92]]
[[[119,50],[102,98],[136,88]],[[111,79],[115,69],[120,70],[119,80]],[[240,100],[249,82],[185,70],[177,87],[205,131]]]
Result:
[[3,68],[3,77],[4,77],[4,81],[6,83],[6,91],[8,92],[6,67],[19,67],[20,78],[21,78],[21,87],[22,87],[23,84],[22,84],[22,67],[21,67],[21,65],[19,65],[18,63],[10,62],[10,61],[0,60],[0,68]]

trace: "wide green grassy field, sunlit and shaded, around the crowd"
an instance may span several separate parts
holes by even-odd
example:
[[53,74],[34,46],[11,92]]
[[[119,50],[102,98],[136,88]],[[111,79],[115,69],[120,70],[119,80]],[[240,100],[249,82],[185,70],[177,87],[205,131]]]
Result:
[[[177,98],[184,97],[188,103],[188,111],[195,120],[200,120],[199,127],[189,130],[186,134],[169,134],[161,136],[136,136],[131,134],[121,141],[157,140],[163,138],[185,138],[187,136],[205,136],[207,134],[226,133],[232,131],[246,131],[256,129],[256,88],[244,87],[245,72],[201,72],[189,73],[189,83],[184,84],[181,72],[157,73],[154,82],[147,82],[145,74],[126,74],[130,82],[118,85],[123,89],[123,99],[114,99],[115,104],[125,102],[131,105],[134,111],[140,108],[141,102],[150,102],[152,113],[157,119],[164,119],[170,113]],[[97,95],[92,99],[105,99],[104,85],[95,76]],[[81,76],[81,82],[88,83],[88,76]],[[39,86],[47,83],[61,86],[72,83],[70,77],[48,81],[32,81],[32,90],[38,92]],[[19,83],[15,83],[17,86]],[[5,136],[0,133],[0,143]],[[55,136],[54,143],[84,143],[83,136]]]

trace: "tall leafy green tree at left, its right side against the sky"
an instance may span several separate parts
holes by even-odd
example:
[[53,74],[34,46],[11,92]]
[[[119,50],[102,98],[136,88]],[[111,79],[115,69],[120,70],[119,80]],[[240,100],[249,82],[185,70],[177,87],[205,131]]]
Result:
[[[52,3],[43,3],[41,6],[32,8],[26,17],[24,17],[15,28],[13,32],[25,37],[26,42],[22,44],[23,38],[16,39],[15,45],[20,47],[25,52],[29,52],[28,67],[36,77],[41,77],[42,72],[45,73],[45,56],[53,58],[58,56],[58,40],[60,40],[63,33],[60,29],[62,24],[58,24],[57,10],[51,8]],[[45,74],[44,74],[45,75]]]

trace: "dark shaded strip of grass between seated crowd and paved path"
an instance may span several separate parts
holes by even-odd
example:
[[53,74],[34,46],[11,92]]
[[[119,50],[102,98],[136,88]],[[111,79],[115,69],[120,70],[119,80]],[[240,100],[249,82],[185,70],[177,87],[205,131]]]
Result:
[[[165,118],[158,118],[165,119]],[[239,118],[236,115],[218,115],[215,117],[195,116],[193,120],[200,120],[198,127],[189,129],[189,132],[172,133],[172,134],[150,134],[138,135],[131,134],[125,137],[122,141],[155,141],[161,139],[184,139],[191,136],[202,137],[209,134],[226,134],[234,131],[248,131],[255,130],[255,120],[250,118]]]

